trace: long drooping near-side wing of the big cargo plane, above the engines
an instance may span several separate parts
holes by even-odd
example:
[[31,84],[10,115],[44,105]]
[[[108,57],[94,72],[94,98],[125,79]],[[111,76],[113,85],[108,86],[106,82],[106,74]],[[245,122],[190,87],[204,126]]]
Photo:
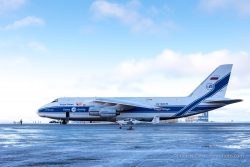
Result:
[[101,103],[103,105],[110,105],[110,106],[118,105],[119,107],[122,108],[122,110],[128,110],[134,107],[142,107],[142,108],[148,108],[148,109],[159,108],[155,105],[148,105],[144,103],[134,102],[130,100],[123,100],[123,99],[118,99],[118,98],[96,98],[94,102]]

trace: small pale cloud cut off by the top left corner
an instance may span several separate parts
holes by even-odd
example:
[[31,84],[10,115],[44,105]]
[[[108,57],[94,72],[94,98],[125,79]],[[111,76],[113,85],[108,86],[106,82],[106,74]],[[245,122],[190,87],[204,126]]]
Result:
[[26,0],[0,0],[0,15],[20,8],[25,2]]

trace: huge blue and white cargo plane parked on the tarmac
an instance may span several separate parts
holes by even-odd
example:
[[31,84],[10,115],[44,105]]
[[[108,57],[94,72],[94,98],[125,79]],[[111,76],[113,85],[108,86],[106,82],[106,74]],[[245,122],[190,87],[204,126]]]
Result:
[[62,97],[38,110],[41,117],[58,120],[152,121],[211,111],[240,99],[225,98],[232,65],[221,65],[187,97]]

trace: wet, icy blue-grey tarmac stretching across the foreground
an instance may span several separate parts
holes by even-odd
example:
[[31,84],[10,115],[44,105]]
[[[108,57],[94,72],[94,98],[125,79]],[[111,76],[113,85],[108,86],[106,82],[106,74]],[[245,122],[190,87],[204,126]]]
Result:
[[0,166],[250,166],[250,124],[0,125]]

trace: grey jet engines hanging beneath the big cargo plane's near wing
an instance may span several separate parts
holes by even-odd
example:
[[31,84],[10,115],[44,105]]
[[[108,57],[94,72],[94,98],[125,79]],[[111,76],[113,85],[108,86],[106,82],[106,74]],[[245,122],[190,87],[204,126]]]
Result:
[[114,109],[114,108],[90,107],[89,108],[89,115],[109,118],[109,117],[115,117],[117,115],[117,112],[116,112],[116,109]]

